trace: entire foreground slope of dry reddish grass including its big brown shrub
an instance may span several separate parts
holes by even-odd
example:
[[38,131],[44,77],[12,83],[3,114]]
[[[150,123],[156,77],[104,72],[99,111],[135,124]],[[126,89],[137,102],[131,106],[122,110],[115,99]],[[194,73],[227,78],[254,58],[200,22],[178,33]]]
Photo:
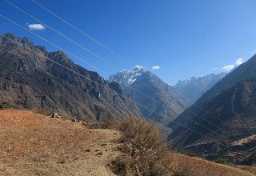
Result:
[[118,175],[255,173],[255,167],[234,168],[171,153],[152,122],[128,119],[119,127],[122,137],[116,130],[88,129],[30,111],[0,110],[0,175],[114,175],[107,167],[110,161]]

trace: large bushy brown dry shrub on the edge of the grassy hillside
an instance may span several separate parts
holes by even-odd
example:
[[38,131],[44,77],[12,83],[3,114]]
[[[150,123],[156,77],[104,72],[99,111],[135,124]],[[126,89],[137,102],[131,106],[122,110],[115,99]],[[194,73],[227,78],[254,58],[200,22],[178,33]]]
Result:
[[[116,171],[116,174],[128,175],[127,170],[132,171],[134,175],[171,174],[172,159],[154,122],[127,118],[120,123],[118,130],[122,132],[122,150],[128,156],[112,162],[112,169],[115,167],[113,171]],[[120,174],[120,171],[123,173]]]

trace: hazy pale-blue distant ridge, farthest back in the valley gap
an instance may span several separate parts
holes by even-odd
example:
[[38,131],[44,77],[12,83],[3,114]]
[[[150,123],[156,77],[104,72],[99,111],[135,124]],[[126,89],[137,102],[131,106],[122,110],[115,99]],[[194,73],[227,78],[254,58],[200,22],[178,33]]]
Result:
[[178,90],[182,95],[188,98],[191,102],[195,102],[202,94],[210,90],[218,81],[226,76],[226,73],[220,74],[208,74],[199,78],[189,78],[186,80],[180,80],[174,86],[175,90]]

